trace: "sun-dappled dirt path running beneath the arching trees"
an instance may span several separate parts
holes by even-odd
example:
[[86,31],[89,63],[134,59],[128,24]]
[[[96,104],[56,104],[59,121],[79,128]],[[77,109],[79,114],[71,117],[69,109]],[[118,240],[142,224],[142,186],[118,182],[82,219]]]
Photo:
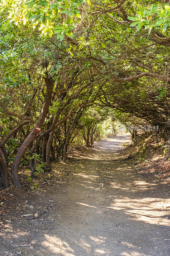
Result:
[[111,161],[127,140],[102,140],[82,155],[66,192],[40,196],[34,204],[54,223],[42,217],[7,224],[0,255],[169,256],[167,184],[140,178],[128,162]]

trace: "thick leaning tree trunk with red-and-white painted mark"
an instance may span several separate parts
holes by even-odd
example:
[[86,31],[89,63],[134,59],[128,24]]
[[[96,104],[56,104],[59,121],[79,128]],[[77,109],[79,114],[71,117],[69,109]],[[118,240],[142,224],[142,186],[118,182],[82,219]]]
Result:
[[34,128],[30,132],[30,134],[26,137],[24,142],[22,143],[21,147],[18,149],[17,155],[12,163],[11,166],[11,180],[12,183],[15,187],[17,188],[22,188],[22,184],[19,179],[18,175],[18,167],[19,163],[24,156],[24,153],[26,152],[26,149],[29,147],[31,142],[35,139],[37,136],[37,132],[40,130],[41,126],[43,125],[45,118],[47,117],[48,114],[48,108],[51,102],[51,97],[52,97],[52,92],[53,92],[53,87],[54,87],[54,80],[50,77],[48,78],[48,74],[46,74],[47,77],[45,77],[45,84],[46,84],[46,95],[44,98],[42,110],[41,110],[41,115],[38,118],[37,123],[35,124]]

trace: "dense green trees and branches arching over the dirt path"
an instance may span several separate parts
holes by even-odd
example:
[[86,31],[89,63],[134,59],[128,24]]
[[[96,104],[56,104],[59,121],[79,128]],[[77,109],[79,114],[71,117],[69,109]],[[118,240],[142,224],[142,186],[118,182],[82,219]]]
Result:
[[22,188],[19,165],[34,177],[35,163],[65,161],[77,136],[92,146],[108,118],[113,131],[116,120],[158,125],[169,140],[168,1],[1,0],[0,10],[5,187]]

